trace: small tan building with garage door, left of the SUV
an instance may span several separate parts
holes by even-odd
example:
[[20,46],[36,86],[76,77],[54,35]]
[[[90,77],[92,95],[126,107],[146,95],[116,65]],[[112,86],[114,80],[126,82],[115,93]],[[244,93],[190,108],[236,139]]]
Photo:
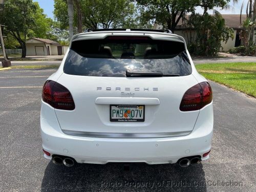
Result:
[[69,46],[62,46],[50,39],[32,37],[26,41],[27,55],[64,55]]

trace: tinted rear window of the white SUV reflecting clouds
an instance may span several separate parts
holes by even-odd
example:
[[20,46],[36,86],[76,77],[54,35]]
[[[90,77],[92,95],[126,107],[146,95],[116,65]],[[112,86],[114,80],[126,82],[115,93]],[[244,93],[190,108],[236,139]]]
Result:
[[191,65],[182,42],[131,36],[73,41],[64,65],[70,75],[126,77],[126,70],[185,76]]

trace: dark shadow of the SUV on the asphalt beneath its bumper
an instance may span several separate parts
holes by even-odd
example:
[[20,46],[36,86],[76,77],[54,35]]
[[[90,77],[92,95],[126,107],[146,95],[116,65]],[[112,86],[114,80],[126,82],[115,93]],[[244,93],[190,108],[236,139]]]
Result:
[[[127,170],[129,169],[129,170]],[[132,163],[77,164],[50,162],[41,191],[206,191],[203,165]]]

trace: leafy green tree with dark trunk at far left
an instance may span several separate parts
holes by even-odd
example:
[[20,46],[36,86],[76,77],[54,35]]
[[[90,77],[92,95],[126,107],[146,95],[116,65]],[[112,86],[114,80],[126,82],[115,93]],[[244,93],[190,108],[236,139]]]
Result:
[[51,27],[51,19],[43,14],[38,3],[32,0],[6,0],[1,22],[22,48],[26,57],[26,40],[36,36],[44,38]]

